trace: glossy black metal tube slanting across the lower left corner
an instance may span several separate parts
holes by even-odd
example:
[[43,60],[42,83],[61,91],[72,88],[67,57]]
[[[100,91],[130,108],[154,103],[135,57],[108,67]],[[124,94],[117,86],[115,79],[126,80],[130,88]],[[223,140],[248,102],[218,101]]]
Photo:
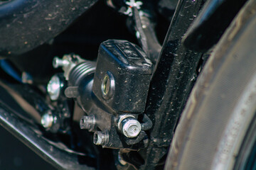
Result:
[[2,105],[0,105],[0,124],[58,169],[93,169],[85,164],[79,164],[77,154],[70,154],[50,145],[36,133],[35,127],[31,128],[28,123],[17,118]]

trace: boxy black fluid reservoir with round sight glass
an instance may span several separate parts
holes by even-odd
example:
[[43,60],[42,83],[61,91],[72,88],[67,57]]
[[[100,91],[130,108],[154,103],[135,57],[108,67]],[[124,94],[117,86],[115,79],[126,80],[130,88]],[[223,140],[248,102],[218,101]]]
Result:
[[143,113],[152,70],[139,46],[107,40],[100,45],[92,91],[115,113]]

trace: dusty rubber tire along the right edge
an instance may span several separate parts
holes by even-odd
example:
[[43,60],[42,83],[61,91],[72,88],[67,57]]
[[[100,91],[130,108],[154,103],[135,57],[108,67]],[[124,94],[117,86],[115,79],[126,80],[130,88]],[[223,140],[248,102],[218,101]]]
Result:
[[213,50],[186,103],[165,169],[233,169],[256,111],[256,1]]

